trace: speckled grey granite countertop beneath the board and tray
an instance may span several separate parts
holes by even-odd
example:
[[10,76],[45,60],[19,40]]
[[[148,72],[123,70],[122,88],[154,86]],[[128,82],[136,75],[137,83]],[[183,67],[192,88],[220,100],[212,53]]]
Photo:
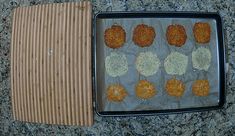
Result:
[[[235,1],[234,0],[93,0],[97,11],[210,11],[224,21],[229,70],[224,109],[147,117],[98,117],[92,127],[22,123],[12,119],[9,48],[11,11],[15,7],[63,0],[0,0],[0,135],[223,135],[235,134]],[[67,2],[67,0],[66,0]]]

